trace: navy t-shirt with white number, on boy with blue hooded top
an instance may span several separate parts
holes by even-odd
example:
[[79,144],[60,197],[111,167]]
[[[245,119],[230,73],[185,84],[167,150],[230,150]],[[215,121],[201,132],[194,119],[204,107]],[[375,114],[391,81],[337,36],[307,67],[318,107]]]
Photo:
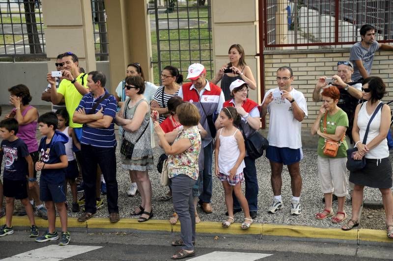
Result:
[[[58,141],[51,144],[46,144],[46,137],[41,139],[38,148],[40,152],[39,161],[45,164],[54,164],[61,162],[60,156],[66,155],[64,143]],[[60,184],[65,181],[66,168],[62,169],[44,169],[41,171],[41,179],[44,179],[50,184]]]

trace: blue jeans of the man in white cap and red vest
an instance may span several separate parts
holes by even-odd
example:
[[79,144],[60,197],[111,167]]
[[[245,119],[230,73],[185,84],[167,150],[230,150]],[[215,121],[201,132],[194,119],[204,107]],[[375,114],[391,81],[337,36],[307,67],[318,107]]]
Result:
[[213,141],[203,148],[205,156],[203,177],[202,177],[202,193],[199,195],[199,204],[210,203],[212,198],[212,166],[213,166]]

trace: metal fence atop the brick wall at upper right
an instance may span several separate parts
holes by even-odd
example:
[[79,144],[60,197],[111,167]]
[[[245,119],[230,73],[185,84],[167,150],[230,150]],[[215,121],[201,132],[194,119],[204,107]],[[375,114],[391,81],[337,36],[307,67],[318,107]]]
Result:
[[264,50],[351,46],[364,24],[393,42],[392,0],[263,0],[260,18]]

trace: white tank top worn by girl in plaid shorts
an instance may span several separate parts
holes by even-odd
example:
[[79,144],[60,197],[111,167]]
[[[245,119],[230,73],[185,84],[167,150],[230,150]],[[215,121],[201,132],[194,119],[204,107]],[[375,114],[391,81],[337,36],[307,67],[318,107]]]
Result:
[[[235,130],[230,136],[223,136],[221,132],[224,128],[220,130],[220,151],[218,154],[218,167],[220,172],[224,175],[229,176],[229,171],[236,164],[237,159],[240,155],[239,146],[237,144],[237,140],[235,138],[235,133],[238,130]],[[243,169],[246,167],[244,164],[244,160],[240,163],[237,168],[236,174],[242,173]]]

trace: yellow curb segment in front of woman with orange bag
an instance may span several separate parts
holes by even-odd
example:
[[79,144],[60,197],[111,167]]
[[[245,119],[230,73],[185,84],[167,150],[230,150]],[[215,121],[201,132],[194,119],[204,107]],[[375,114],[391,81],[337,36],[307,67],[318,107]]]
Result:
[[[289,226],[263,224],[262,235],[309,237],[309,238],[331,238],[343,240],[357,240],[357,230],[342,231],[339,228],[315,228],[309,226]],[[365,239],[366,240],[366,239]]]

